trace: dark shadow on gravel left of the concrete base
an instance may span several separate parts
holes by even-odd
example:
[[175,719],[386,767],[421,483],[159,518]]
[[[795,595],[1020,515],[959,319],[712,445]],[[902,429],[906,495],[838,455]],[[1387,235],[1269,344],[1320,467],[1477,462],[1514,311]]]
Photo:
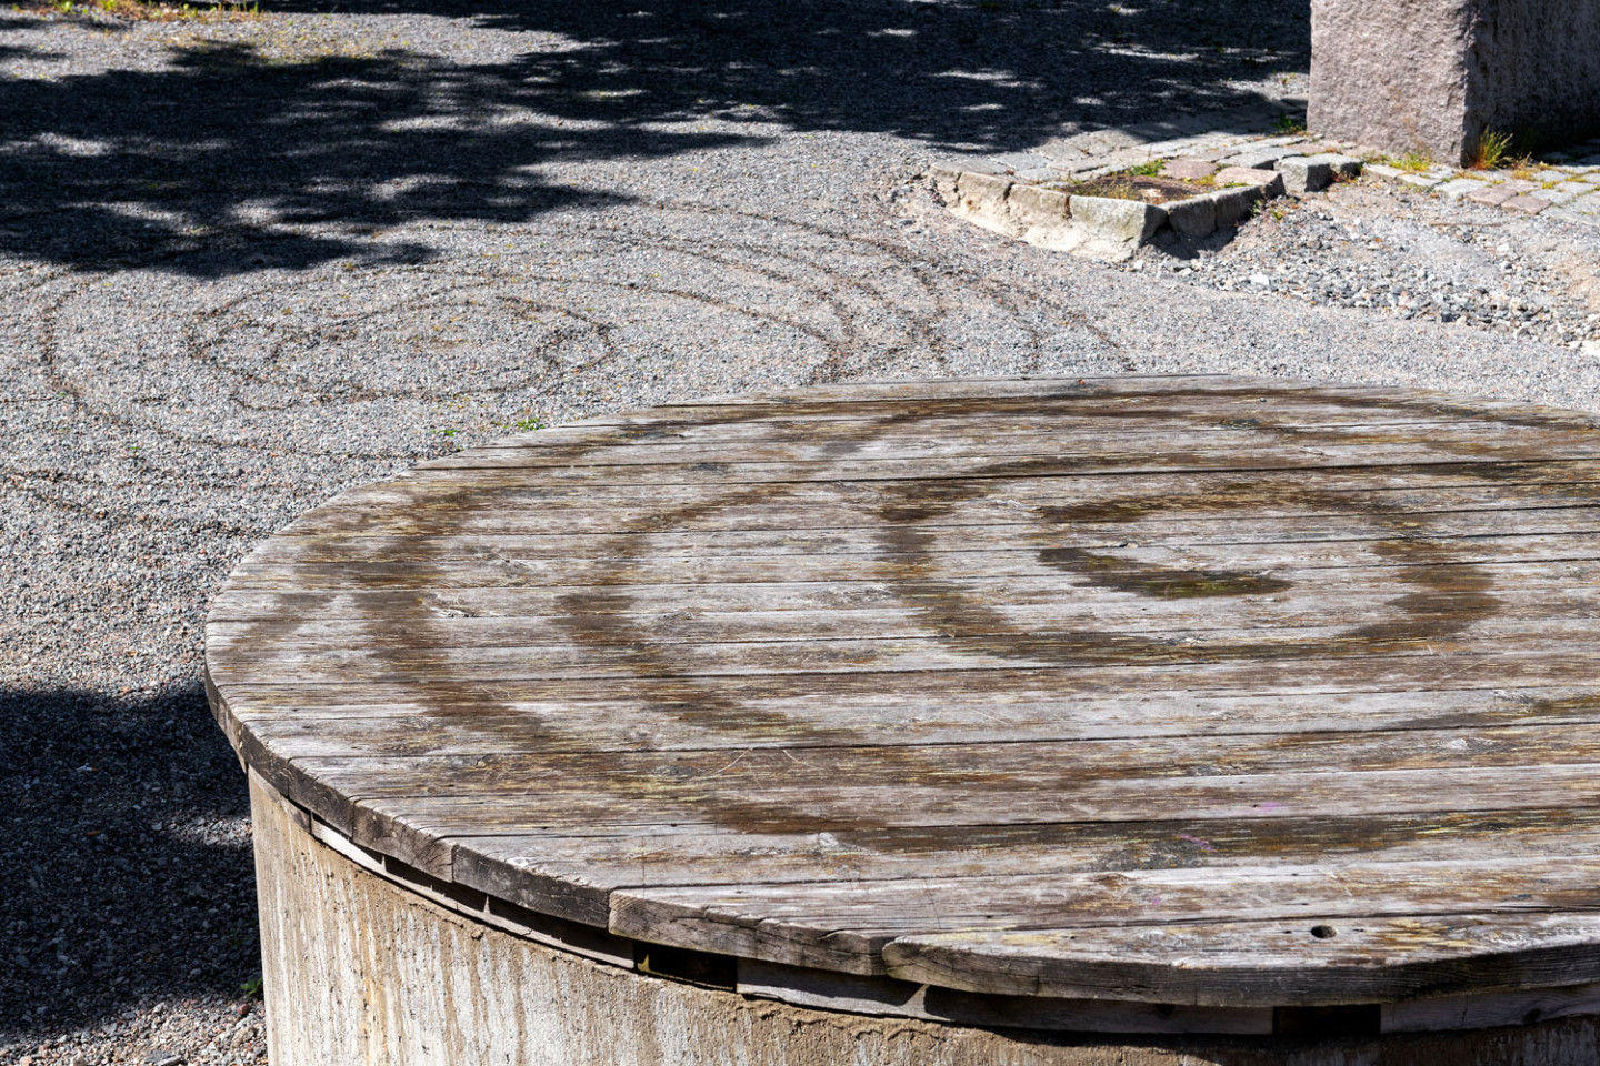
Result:
[[0,1032],[243,999],[261,972],[250,802],[200,686],[0,690]]

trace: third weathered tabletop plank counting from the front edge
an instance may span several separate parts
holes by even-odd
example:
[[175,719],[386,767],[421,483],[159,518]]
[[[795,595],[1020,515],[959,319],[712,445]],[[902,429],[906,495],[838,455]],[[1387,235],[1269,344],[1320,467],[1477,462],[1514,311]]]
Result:
[[[1050,879],[1114,869],[1227,869],[1262,863],[1445,861],[1472,849],[1496,858],[1594,853],[1594,812],[1390,813],[1258,820],[1070,821],[883,826],[851,833],[714,833],[632,823],[443,837],[451,876],[520,906],[550,908],[536,871],[600,889],[814,884],[947,877]],[[595,901],[598,905],[598,900]]]

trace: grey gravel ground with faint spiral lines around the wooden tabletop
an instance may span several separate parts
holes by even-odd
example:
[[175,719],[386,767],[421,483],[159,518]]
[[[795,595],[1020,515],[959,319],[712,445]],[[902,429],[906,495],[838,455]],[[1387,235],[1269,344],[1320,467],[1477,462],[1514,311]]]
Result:
[[1600,310],[1594,232],[1352,187],[1133,272],[957,222],[918,177],[1299,91],[1302,3],[341,11],[0,13],[0,1063],[264,1056],[243,780],[198,636],[234,563],[341,487],[854,377],[1600,406],[1568,347]]

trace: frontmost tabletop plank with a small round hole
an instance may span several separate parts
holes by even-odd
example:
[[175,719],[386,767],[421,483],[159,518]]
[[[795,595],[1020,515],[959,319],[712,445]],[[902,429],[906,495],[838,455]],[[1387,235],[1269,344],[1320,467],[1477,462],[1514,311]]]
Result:
[[[1405,948],[1424,938],[1451,948],[1525,943],[1403,959]],[[1174,945],[1176,962],[1168,959]],[[1190,949],[1182,951],[1186,946]],[[1152,954],[1139,959],[1141,949]],[[1326,924],[1285,917],[1163,929],[971,930],[901,937],[883,946],[883,959],[886,973],[902,981],[989,994],[1096,999],[1115,991],[1200,1007],[1395,1005],[1451,997],[1454,1007],[1466,1007],[1458,1016],[1470,1018],[1482,1016],[1477,1007],[1483,1000],[1504,992],[1600,981],[1600,916],[1486,913],[1350,916]],[[1578,1000],[1589,1004],[1590,997]],[[1600,1010],[1600,997],[1594,1007]],[[1390,1024],[1456,1028],[1443,1024],[1450,1010],[1390,1010]]]

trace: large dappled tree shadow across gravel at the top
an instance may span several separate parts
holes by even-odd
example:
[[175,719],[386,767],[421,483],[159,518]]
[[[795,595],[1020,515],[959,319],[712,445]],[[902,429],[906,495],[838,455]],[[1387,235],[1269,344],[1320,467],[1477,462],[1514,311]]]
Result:
[[[1019,149],[1062,123],[1253,102],[1240,78],[1306,69],[1306,6],[1274,0],[1242,16],[1234,0],[357,0],[357,11],[533,37],[504,62],[282,61],[211,45],[178,50],[166,69],[3,80],[0,249],[192,275],[426,257],[421,243],[373,237],[616,200],[541,168],[747,139],[736,126],[696,129],[707,115]],[[536,51],[550,35],[558,46]],[[19,40],[6,48],[26,50]]]

